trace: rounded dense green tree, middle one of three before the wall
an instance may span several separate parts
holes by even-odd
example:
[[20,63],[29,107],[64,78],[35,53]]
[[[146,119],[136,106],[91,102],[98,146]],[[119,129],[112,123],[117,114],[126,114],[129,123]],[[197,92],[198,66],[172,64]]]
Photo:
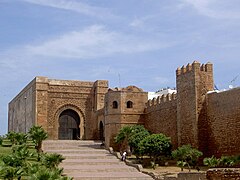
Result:
[[140,143],[140,151],[143,155],[148,155],[155,164],[160,157],[171,154],[171,140],[164,134],[151,134],[145,137]]

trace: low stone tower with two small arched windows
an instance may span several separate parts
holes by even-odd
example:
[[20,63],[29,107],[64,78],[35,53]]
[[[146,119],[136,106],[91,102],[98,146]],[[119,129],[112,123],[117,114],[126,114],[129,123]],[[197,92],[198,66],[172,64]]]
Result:
[[114,146],[114,137],[125,125],[144,124],[147,92],[136,86],[109,89],[105,96],[105,143]]

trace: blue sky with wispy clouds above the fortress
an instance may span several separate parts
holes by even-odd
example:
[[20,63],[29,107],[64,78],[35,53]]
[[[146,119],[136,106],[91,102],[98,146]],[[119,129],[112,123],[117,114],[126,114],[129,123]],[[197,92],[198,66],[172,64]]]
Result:
[[239,0],[0,0],[0,134],[35,76],[156,91],[198,60],[227,88],[240,74],[239,29]]

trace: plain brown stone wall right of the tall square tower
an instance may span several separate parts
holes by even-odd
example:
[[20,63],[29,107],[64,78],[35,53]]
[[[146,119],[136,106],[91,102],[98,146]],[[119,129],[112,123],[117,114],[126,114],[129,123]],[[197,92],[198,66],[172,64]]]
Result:
[[240,154],[240,88],[207,96],[209,155]]

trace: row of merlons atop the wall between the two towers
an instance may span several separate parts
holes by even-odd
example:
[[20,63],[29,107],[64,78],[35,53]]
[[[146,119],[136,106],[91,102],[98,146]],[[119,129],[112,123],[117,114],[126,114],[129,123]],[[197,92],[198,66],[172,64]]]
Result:
[[155,106],[158,104],[163,104],[165,102],[171,102],[175,100],[177,97],[176,93],[172,94],[163,94],[162,96],[158,96],[157,98],[149,99],[147,102],[147,107]]

